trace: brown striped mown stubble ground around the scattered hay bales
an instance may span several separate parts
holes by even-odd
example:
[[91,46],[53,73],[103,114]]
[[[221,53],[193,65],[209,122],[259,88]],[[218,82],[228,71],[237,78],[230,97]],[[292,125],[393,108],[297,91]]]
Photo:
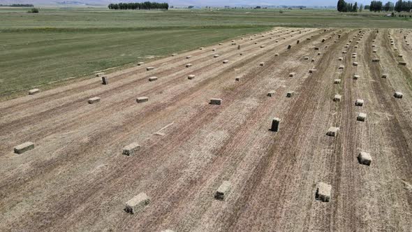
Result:
[[[111,73],[109,85],[94,78],[2,102],[0,231],[411,231],[406,41],[401,29],[275,28]],[[101,101],[88,104],[93,96]],[[337,137],[325,135],[330,126]],[[13,153],[27,141],[34,150]],[[133,142],[142,149],[122,155]],[[360,151],[371,166],[358,163]],[[217,201],[224,180],[232,190]],[[317,182],[332,185],[329,203],[315,199]],[[124,212],[140,192],[149,206]]]

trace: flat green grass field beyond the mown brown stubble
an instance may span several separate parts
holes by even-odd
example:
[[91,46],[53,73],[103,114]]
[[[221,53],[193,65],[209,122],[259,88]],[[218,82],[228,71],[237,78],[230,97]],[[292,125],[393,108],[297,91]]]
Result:
[[0,8],[0,99],[271,27],[412,27],[410,18],[369,12],[283,11]]

